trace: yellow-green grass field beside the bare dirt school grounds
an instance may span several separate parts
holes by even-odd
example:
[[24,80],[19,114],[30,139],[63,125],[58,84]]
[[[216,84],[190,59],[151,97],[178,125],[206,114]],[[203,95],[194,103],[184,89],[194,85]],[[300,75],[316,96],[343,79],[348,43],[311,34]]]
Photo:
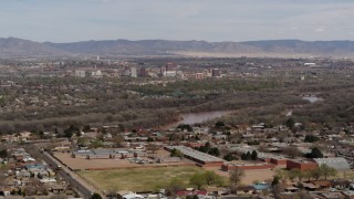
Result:
[[148,191],[166,187],[171,179],[181,180],[189,185],[189,178],[202,172],[199,167],[159,167],[131,168],[114,170],[85,170],[79,174],[93,181],[102,190]]

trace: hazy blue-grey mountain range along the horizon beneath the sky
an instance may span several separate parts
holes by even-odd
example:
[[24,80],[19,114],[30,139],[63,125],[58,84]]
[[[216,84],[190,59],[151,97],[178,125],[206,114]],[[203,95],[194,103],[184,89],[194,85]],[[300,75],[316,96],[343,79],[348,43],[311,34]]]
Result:
[[0,57],[73,55],[192,55],[192,56],[333,56],[353,57],[354,41],[268,40],[206,42],[169,40],[104,40],[73,43],[34,42],[0,38]]

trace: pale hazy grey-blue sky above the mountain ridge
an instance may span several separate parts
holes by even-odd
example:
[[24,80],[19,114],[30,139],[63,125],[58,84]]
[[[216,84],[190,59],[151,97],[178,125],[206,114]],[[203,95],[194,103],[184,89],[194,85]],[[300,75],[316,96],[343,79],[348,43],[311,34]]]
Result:
[[354,40],[354,0],[0,0],[0,38]]

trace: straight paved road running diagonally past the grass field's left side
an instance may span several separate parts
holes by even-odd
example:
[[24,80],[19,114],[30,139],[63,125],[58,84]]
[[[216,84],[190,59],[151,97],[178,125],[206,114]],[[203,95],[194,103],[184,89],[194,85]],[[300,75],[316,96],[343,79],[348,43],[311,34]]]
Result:
[[[28,145],[25,149],[33,157],[39,157],[43,159],[46,164],[51,165],[53,169],[58,168],[58,166],[62,167],[61,170],[56,170],[56,174],[63,179],[65,179],[67,182],[70,182],[70,185],[72,185],[73,188],[76,189],[85,199],[88,199],[92,192],[100,192],[100,190],[83,181],[81,177],[79,177],[75,172],[71,171],[66,166],[62,165],[46,151],[41,153],[34,145]],[[105,198],[104,196],[102,197]]]

